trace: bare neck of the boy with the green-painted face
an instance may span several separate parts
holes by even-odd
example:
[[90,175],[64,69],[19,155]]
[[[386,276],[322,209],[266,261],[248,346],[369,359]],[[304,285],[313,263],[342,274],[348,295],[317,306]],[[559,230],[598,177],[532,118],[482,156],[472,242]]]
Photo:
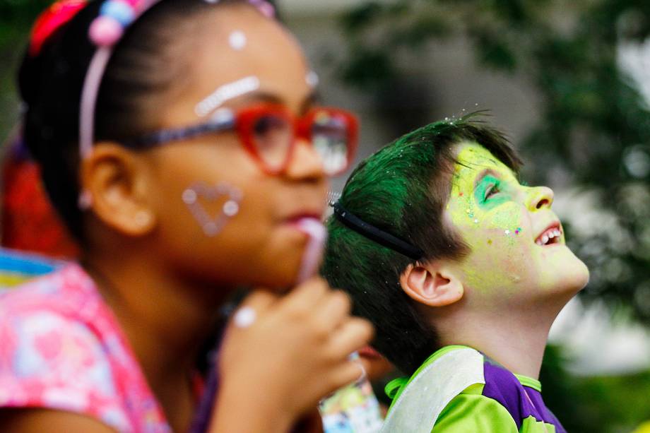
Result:
[[515,374],[538,379],[550,327],[564,305],[507,314],[456,312],[437,318],[435,326],[442,345],[467,345]]

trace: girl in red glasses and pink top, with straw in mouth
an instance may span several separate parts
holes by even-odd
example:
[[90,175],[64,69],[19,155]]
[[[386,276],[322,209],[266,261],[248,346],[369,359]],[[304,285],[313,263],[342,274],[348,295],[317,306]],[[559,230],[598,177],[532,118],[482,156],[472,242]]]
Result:
[[[81,259],[0,294],[0,430],[286,432],[358,378],[372,328],[313,276],[358,126],[314,105],[272,15],[66,0],[37,20],[23,138]],[[202,398],[197,358],[241,287]]]

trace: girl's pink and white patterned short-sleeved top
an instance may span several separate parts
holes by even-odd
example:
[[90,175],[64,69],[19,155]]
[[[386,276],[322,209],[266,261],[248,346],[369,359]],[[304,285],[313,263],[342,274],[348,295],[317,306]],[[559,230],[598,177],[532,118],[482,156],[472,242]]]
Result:
[[76,265],[0,292],[0,407],[171,432],[116,319]]

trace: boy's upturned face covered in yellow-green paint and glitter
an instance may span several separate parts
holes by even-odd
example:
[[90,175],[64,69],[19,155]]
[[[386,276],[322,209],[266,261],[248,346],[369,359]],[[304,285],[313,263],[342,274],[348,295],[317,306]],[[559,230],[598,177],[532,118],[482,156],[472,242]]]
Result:
[[493,304],[586,284],[589,273],[563,234],[553,245],[536,243],[559,224],[550,210],[553,191],[520,184],[509,167],[475,143],[459,145],[456,159],[446,217],[471,250],[461,263],[466,288]]

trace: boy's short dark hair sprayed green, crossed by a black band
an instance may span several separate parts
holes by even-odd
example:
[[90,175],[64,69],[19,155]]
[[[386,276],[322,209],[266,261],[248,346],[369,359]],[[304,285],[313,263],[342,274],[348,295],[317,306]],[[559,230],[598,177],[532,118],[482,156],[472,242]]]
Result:
[[[339,202],[365,223],[420,248],[421,261],[462,259],[466,244],[442,223],[442,214],[451,192],[454,148],[463,142],[478,143],[513,170],[519,168],[519,158],[504,136],[475,116],[438,121],[361,162]],[[399,282],[415,260],[350,230],[335,216],[327,226],[324,276],[353,298],[355,314],[373,322],[374,347],[403,372],[415,371],[439,347],[435,328]]]

